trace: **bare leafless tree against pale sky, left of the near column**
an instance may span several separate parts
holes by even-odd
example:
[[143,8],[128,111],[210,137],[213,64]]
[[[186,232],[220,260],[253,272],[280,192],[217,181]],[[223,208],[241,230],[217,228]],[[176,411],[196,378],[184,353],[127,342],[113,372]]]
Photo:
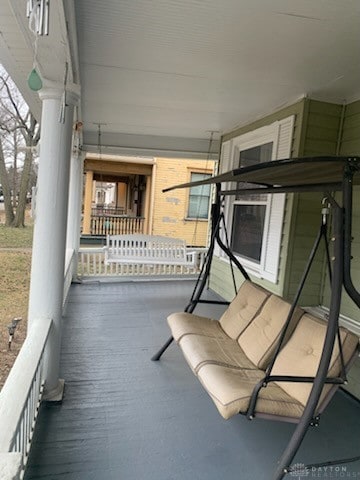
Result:
[[[0,183],[3,189],[6,225],[23,227],[33,173],[34,147],[40,139],[40,127],[5,71],[0,74],[0,129]],[[24,152],[21,159],[20,151]],[[9,159],[12,179],[6,166]]]

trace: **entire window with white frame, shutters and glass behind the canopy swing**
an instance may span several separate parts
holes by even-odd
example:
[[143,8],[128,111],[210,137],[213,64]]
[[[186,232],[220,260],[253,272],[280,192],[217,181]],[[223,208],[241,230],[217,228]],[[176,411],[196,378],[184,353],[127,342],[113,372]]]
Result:
[[[290,157],[293,127],[294,116],[291,116],[224,142],[220,172]],[[229,190],[235,187],[235,184],[226,186]],[[251,188],[251,184],[237,187]],[[225,197],[232,250],[249,273],[273,283],[278,278],[284,209],[285,194]],[[220,250],[217,252],[223,256]]]

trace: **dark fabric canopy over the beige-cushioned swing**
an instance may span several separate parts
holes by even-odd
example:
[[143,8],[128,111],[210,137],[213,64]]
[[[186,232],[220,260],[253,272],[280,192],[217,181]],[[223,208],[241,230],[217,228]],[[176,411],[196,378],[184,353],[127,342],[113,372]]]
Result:
[[[306,157],[275,160],[244,168],[236,168],[198,182],[183,183],[164,189],[164,192],[177,188],[195,187],[216,183],[244,182],[253,184],[237,193],[297,192],[341,190],[346,171],[354,174],[354,184],[360,184],[360,157]],[[221,193],[235,193],[235,190],[222,190]]]

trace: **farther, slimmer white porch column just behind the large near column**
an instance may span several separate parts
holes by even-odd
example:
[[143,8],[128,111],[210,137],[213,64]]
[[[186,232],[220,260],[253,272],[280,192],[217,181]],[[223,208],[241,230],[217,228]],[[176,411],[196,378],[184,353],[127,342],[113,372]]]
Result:
[[75,252],[73,278],[77,276],[77,258],[80,247],[81,205],[83,194],[83,154],[72,154],[70,162],[69,206],[66,248]]

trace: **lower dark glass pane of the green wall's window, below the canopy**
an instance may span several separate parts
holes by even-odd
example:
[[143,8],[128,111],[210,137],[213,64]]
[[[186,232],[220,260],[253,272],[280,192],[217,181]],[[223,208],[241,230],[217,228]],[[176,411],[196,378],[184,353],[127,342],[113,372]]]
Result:
[[260,263],[266,205],[234,205],[232,250]]

